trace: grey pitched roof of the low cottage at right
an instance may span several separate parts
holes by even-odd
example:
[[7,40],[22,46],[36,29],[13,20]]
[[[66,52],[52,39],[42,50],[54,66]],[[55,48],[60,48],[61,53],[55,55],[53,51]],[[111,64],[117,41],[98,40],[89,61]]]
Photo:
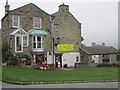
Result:
[[99,55],[99,54],[117,54],[118,50],[112,46],[88,46],[83,48],[88,54]]

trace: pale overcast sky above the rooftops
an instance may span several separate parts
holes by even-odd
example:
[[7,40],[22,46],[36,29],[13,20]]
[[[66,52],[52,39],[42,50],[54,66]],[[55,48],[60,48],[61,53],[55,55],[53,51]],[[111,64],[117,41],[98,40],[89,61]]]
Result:
[[[93,42],[118,48],[118,1],[119,0],[8,0],[10,10],[34,3],[49,14],[58,11],[63,2],[81,23],[82,42],[90,46]],[[0,3],[0,19],[4,16],[6,0]],[[0,22],[1,28],[1,22]]]

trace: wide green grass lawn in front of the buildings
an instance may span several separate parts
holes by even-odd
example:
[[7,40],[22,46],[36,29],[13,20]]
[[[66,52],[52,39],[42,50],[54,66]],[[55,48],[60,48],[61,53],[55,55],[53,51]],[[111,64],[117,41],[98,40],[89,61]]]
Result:
[[33,68],[13,66],[2,67],[3,81],[42,82],[42,81],[78,81],[78,80],[118,80],[117,67],[80,68],[73,71],[44,71]]

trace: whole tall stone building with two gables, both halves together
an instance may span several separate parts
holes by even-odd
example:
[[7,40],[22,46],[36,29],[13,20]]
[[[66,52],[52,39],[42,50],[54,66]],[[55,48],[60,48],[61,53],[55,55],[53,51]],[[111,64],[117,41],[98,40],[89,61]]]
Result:
[[[80,62],[81,23],[62,4],[50,15],[33,3],[10,10],[6,2],[2,23],[2,55],[6,52],[29,53],[35,64]],[[61,48],[63,48],[61,51]],[[67,48],[67,49],[66,49]],[[67,54],[74,59],[63,63]],[[42,61],[42,62],[41,62]],[[70,66],[70,65],[69,65]]]

